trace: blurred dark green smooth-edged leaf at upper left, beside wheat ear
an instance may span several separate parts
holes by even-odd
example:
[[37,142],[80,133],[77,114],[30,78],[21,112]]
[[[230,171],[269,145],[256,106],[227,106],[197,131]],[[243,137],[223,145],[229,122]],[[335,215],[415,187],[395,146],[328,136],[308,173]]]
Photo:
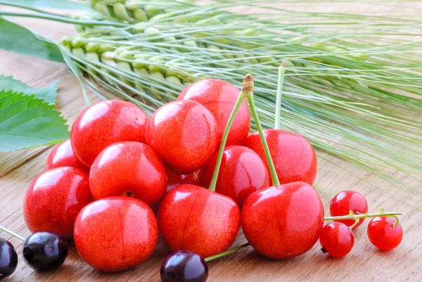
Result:
[[0,17],[0,49],[63,63],[57,44]]

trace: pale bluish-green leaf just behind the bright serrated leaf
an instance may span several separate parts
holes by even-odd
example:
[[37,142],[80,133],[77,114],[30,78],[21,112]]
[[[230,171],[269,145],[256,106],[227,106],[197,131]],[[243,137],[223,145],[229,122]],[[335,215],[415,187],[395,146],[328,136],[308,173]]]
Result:
[[13,79],[13,77],[6,77],[0,75],[0,89],[4,91],[11,90],[12,92],[23,92],[25,95],[35,95],[37,98],[41,98],[47,103],[55,104],[58,95],[57,84],[58,79],[52,84],[45,86],[44,88],[32,88],[27,84],[20,82],[20,80]]

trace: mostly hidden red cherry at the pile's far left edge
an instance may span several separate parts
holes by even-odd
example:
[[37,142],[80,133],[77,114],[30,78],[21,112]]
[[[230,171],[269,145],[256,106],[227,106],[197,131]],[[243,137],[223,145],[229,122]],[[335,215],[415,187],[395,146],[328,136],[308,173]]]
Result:
[[56,167],[76,167],[82,169],[84,172],[89,172],[89,167],[84,165],[73,153],[70,139],[63,141],[54,147],[47,158],[45,170]]

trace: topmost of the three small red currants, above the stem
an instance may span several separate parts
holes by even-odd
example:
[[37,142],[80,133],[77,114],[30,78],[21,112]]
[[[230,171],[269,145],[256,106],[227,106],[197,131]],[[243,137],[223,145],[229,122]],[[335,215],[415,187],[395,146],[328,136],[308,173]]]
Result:
[[[330,214],[332,217],[347,215],[350,211],[354,212],[354,214],[366,214],[366,212],[368,212],[368,203],[361,193],[356,191],[343,191],[335,195],[333,200],[331,200]],[[337,220],[337,222],[352,226],[355,221],[353,219],[345,219]],[[356,228],[363,222],[364,218],[360,219],[359,223],[353,228]]]

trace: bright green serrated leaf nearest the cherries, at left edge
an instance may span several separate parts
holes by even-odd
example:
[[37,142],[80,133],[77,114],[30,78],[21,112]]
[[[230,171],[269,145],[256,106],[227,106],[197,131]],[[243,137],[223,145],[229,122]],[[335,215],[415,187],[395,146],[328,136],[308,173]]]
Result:
[[0,152],[58,143],[69,138],[66,120],[35,96],[0,92]]

